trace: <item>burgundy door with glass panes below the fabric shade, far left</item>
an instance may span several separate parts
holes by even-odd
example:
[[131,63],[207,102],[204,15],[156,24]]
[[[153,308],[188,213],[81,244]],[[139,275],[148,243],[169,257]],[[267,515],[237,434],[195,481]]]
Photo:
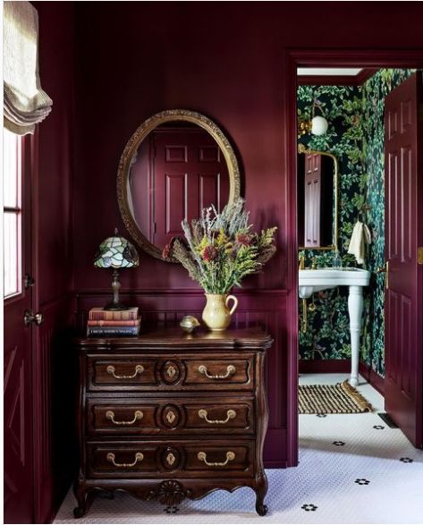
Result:
[[[21,142],[19,157],[14,166],[23,175],[30,165],[30,140]],[[4,157],[7,148],[4,138]],[[4,178],[13,177],[13,166],[4,165]],[[16,174],[19,177],[18,174]],[[24,325],[24,311],[31,308],[31,290],[25,289],[23,276],[30,273],[30,177],[21,177],[9,196],[4,199],[4,253],[14,252],[14,232],[18,235],[16,265],[4,262],[6,288],[15,292],[4,300],[4,522],[33,522],[33,451],[32,451],[32,392],[31,392],[31,326]],[[4,183],[4,187],[6,187]],[[8,204],[8,205],[6,205]],[[13,224],[13,227],[11,227]],[[19,233],[21,232],[21,233]],[[21,242],[19,236],[21,235]],[[21,247],[19,247],[21,245]],[[12,256],[13,257],[13,256]],[[6,267],[12,272],[6,270]],[[21,270],[21,271],[20,271]],[[16,272],[13,274],[13,272]],[[13,283],[14,275],[14,283]],[[6,285],[6,281],[9,284]]]

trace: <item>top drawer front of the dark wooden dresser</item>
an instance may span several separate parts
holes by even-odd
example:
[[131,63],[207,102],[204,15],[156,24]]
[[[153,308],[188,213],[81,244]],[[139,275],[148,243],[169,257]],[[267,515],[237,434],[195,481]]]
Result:
[[88,390],[171,391],[252,390],[254,353],[232,359],[216,353],[204,359],[199,353],[185,355],[120,355],[88,357]]

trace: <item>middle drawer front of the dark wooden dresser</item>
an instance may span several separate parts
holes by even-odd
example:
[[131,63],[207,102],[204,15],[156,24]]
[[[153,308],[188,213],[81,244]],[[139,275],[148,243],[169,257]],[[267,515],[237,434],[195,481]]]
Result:
[[254,434],[253,399],[199,397],[187,401],[89,399],[87,428],[91,436],[163,434]]

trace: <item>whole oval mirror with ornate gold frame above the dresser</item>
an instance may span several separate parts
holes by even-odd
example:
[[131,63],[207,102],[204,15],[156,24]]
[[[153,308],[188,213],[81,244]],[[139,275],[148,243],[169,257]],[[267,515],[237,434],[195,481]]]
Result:
[[[203,114],[163,111],[131,136],[119,163],[117,199],[123,223],[150,255],[182,235],[182,219],[240,196],[240,169],[224,133]],[[171,259],[172,260],[172,259]],[[172,260],[172,262],[176,262]]]

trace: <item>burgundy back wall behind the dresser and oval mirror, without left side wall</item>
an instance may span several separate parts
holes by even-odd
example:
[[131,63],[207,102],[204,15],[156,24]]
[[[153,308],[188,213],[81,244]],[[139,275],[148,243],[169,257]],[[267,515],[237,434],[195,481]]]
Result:
[[[109,289],[110,275],[94,269],[92,258],[115,225],[124,232],[115,180],[126,141],[140,123],[164,109],[206,114],[238,152],[251,222],[279,226],[278,253],[262,275],[245,281],[240,314],[247,324],[248,319],[265,322],[276,340],[268,359],[267,465],[293,465],[297,459],[289,448],[289,434],[296,432],[296,363],[288,345],[296,343],[297,284],[294,174],[290,179],[286,164],[286,148],[295,147],[295,137],[287,135],[293,128],[284,117],[292,104],[285,52],[317,45],[421,47],[417,12],[422,10],[413,9],[410,16],[410,7],[400,2],[386,4],[383,12],[376,3],[365,10],[359,3],[321,2],[76,4],[73,264],[79,308],[102,304]],[[122,283],[126,299],[150,318],[200,310],[182,267],[146,254],[139,269],[123,272]],[[171,296],[163,293],[169,290]],[[269,308],[274,317],[267,322]]]

